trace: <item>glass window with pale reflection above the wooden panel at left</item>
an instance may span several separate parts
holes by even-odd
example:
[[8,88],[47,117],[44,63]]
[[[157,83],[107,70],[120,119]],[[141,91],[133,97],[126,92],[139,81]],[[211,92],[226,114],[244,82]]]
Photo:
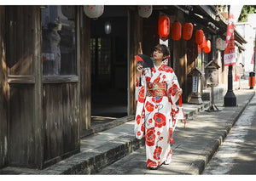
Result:
[[74,6],[42,8],[43,75],[76,75]]

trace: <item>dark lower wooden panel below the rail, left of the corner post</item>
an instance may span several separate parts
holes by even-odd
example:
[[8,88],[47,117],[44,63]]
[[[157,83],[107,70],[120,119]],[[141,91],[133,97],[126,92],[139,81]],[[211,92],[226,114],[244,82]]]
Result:
[[34,88],[29,84],[10,85],[9,165],[36,167],[34,134]]

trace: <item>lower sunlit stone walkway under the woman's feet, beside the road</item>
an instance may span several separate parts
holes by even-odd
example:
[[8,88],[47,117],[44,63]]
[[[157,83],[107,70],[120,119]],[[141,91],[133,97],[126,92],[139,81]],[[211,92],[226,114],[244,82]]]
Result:
[[202,111],[189,119],[185,129],[183,124],[178,124],[174,133],[175,143],[172,145],[170,165],[163,165],[158,170],[148,170],[143,147],[98,174],[201,174],[248,101],[253,98],[254,90],[235,93],[238,106],[223,107],[223,102],[220,101],[216,105],[221,111]]

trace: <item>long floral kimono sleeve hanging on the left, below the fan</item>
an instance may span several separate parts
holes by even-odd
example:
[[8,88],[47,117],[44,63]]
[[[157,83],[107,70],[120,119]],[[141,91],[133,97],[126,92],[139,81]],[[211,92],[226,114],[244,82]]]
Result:
[[137,78],[136,82],[136,90],[135,97],[137,102],[136,116],[135,116],[135,124],[134,124],[134,133],[137,139],[143,139],[144,130],[145,130],[145,110],[144,110],[144,102],[146,98],[146,79],[145,74],[143,72],[143,76],[141,78],[142,85],[139,86],[139,79]]

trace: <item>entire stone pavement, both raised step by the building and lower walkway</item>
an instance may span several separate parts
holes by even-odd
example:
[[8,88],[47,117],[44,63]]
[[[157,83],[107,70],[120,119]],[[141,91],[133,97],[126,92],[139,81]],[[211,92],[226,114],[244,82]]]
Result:
[[128,122],[123,120],[124,123],[117,127],[84,137],[79,154],[44,170],[4,167],[0,174],[200,174],[255,94],[254,89],[248,89],[247,82],[234,92],[238,106],[223,107],[220,96],[222,99],[215,100],[222,110],[218,112],[204,111],[209,101],[202,105],[183,104],[188,117],[186,128],[182,122],[178,123],[172,163],[158,170],[146,168],[144,140],[135,139],[134,117],[130,116],[126,117]]

